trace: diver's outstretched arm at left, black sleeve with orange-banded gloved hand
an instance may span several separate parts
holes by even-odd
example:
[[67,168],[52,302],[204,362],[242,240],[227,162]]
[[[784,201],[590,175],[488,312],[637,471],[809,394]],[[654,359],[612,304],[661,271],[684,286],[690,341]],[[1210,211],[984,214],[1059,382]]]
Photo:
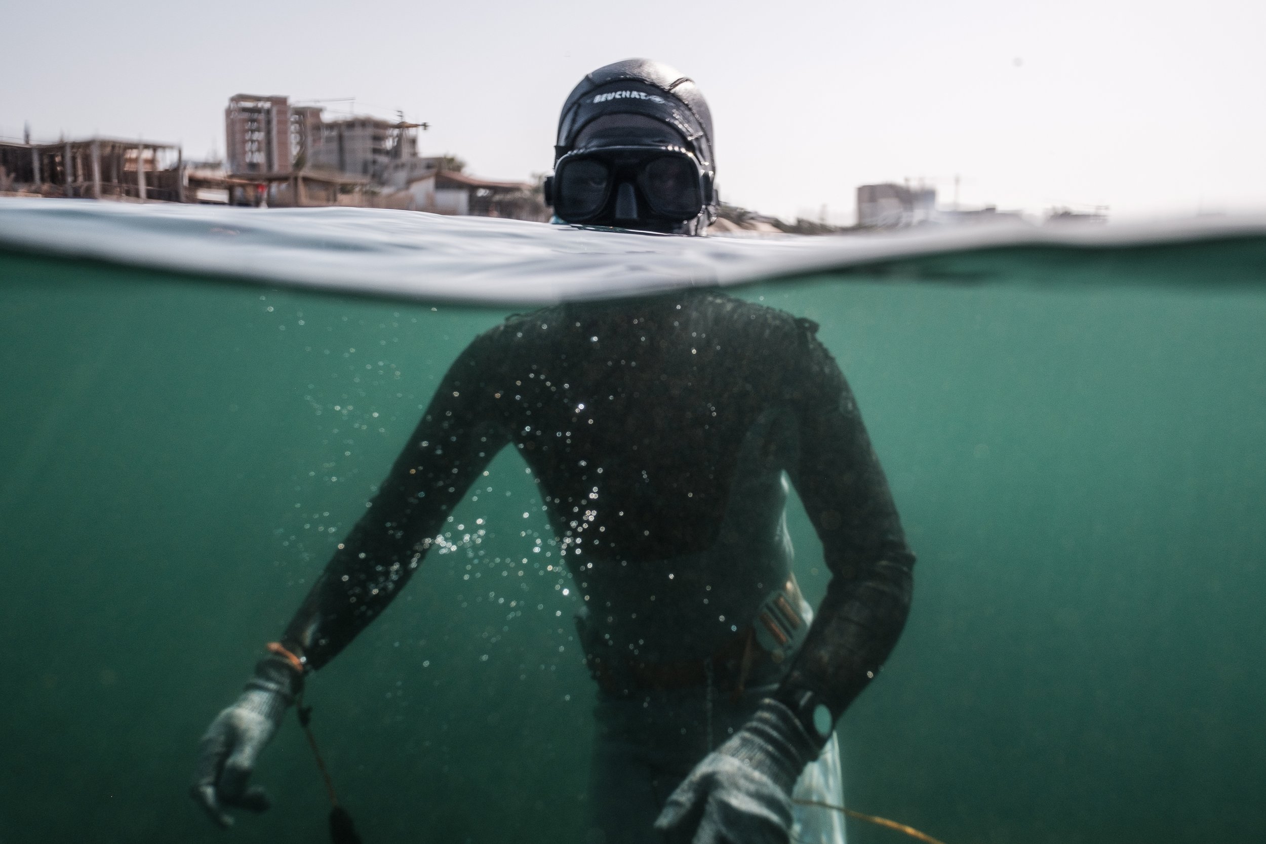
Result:
[[466,488],[509,440],[500,424],[500,329],[476,338],[448,369],[408,445],[365,515],[339,544],[273,654],[238,700],[211,721],[199,745],[190,793],[229,826],[228,807],[263,811],[268,798],[247,779],[304,673],[342,650],[399,593]]

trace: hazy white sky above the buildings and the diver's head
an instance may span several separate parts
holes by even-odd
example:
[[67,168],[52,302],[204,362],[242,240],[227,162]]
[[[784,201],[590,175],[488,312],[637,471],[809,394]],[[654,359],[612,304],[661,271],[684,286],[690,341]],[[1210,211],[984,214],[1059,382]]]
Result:
[[[717,123],[723,196],[851,220],[860,183],[1114,218],[1266,210],[1266,3],[6,4],[0,135],[224,149],[237,92],[356,96],[423,153],[527,177],[587,71],[666,61]],[[346,108],[347,104],[334,104]]]

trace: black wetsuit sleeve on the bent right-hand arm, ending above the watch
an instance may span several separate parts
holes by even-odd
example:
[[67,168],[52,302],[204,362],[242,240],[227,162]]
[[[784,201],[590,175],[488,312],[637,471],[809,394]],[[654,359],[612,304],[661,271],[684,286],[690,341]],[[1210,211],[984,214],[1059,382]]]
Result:
[[790,475],[832,577],[777,697],[791,705],[812,692],[839,717],[901,634],[914,554],[852,391],[817,326],[803,323],[804,357],[789,381],[800,440]]

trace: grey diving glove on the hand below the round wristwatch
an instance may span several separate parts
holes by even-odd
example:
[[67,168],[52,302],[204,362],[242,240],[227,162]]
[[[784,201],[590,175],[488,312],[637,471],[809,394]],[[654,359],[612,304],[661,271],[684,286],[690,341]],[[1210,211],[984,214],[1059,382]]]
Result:
[[791,710],[767,698],[677,786],[655,828],[670,844],[787,844],[791,788],[819,750]]

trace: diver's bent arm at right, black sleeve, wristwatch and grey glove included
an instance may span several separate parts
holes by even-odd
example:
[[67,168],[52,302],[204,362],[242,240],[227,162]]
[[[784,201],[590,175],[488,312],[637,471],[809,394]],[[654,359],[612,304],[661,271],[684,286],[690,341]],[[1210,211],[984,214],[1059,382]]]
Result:
[[910,606],[914,555],[839,367],[798,320],[784,373],[799,421],[791,480],[822,538],[832,580],[776,693],[668,798],[656,821],[672,844],[784,843],[791,791],[834,721],[874,680]]

